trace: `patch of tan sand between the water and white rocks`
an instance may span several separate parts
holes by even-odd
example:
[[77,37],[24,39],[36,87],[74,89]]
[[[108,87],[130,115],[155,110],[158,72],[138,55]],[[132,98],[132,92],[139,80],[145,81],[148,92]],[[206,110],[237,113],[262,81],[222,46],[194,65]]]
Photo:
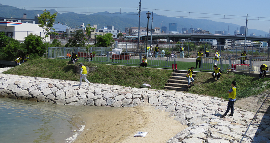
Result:
[[[84,106],[83,109],[79,114],[86,126],[74,143],[164,143],[187,127],[169,117],[168,112],[145,103],[135,108]],[[133,137],[138,131],[148,134],[145,138]]]

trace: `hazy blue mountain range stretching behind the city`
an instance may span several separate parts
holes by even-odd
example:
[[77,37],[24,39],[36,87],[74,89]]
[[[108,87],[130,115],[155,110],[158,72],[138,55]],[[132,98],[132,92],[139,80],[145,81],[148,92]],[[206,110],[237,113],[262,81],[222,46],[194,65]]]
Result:
[[[51,13],[55,13],[54,9],[48,10]],[[147,26],[147,11],[141,12],[141,19],[140,19],[140,26],[146,27]],[[21,18],[23,14],[27,14],[27,18],[34,19],[34,16],[37,14],[42,14],[43,11],[40,10],[26,10],[26,9],[19,9],[17,7],[12,7],[8,5],[1,5],[0,4],[0,17],[13,17],[13,18]],[[64,25],[68,25],[69,27],[79,27],[82,23],[85,25],[99,25],[100,28],[107,25],[114,25],[115,29],[119,29],[121,31],[125,31],[125,27],[138,27],[138,13],[130,12],[130,13],[109,13],[105,12],[98,12],[93,14],[78,14],[74,12],[68,13],[57,13],[57,17],[55,19],[55,24],[63,23]],[[151,28],[151,17],[149,19],[149,28]],[[202,28],[203,30],[210,31],[211,33],[215,33],[215,31],[223,31],[224,29],[228,31],[232,35],[234,31],[238,29],[240,31],[240,25],[236,25],[233,23],[225,23],[225,22],[217,22],[208,19],[191,19],[191,18],[183,18],[183,17],[168,17],[168,16],[161,16],[153,13],[153,28],[166,26],[167,30],[169,30],[169,23],[177,23],[178,31],[181,32],[182,28]],[[244,26],[244,25],[242,25]],[[255,33],[256,36],[265,34],[269,34],[262,30],[257,29],[248,29],[248,36],[251,33]]]

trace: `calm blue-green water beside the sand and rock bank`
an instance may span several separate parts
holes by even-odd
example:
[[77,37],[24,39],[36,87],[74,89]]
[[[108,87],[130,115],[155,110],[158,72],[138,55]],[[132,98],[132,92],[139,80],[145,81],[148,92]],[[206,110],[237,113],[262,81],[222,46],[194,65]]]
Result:
[[84,125],[68,106],[0,98],[0,142],[70,143]]

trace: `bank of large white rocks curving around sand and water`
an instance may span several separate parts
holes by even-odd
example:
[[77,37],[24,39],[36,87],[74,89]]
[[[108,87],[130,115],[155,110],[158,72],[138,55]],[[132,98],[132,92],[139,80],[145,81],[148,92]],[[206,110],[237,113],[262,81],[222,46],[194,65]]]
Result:
[[[183,92],[0,74],[0,97],[60,105],[134,107],[150,103],[188,125],[166,143],[270,143],[267,114],[235,109],[220,118],[227,101]],[[248,106],[248,105],[247,105]],[[147,136],[146,136],[147,137]]]

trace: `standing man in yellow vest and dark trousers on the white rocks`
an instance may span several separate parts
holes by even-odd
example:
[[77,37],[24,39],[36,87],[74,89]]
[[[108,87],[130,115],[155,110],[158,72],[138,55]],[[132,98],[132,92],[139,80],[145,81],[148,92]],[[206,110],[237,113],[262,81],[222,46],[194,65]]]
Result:
[[229,112],[229,110],[231,109],[231,114],[229,114],[229,116],[233,116],[234,115],[234,101],[236,100],[236,82],[233,81],[231,86],[232,88],[227,92],[229,94],[229,102],[228,102],[228,106],[227,106],[227,110],[226,112],[221,115],[221,117],[225,117],[227,115],[227,113]]

